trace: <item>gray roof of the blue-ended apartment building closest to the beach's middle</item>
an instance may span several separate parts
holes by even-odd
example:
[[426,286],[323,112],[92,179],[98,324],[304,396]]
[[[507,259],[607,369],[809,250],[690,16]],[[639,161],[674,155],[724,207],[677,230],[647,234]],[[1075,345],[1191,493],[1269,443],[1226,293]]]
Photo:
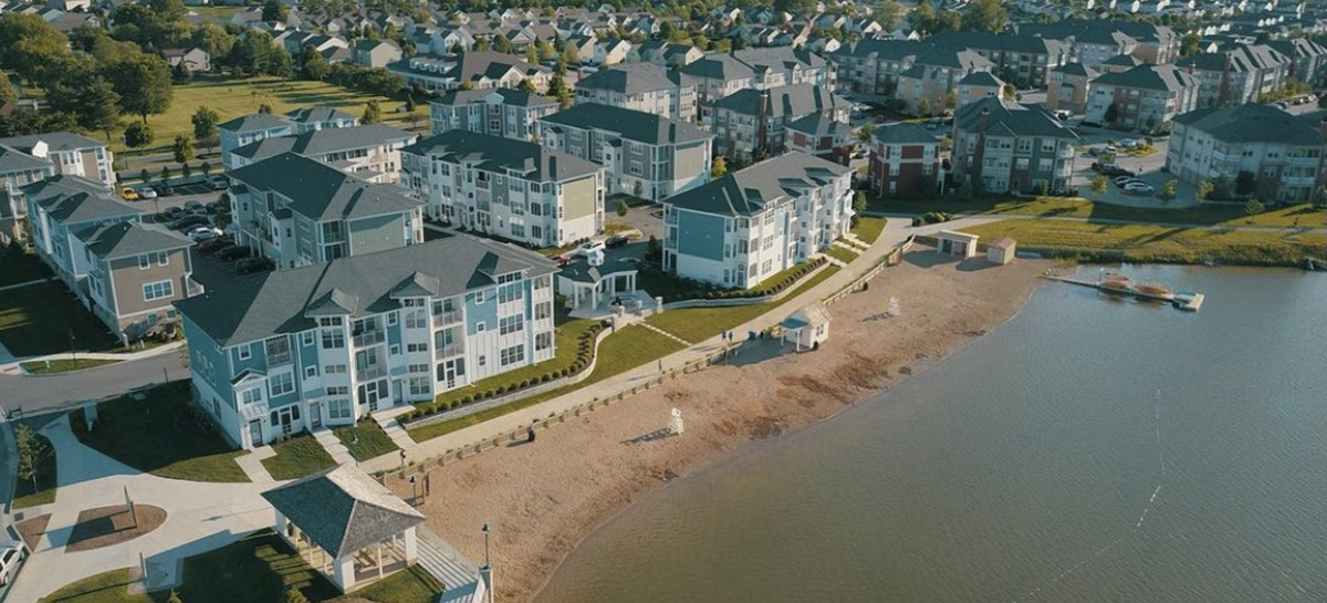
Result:
[[678,193],[664,203],[705,214],[751,215],[764,211],[770,203],[824,186],[847,171],[845,166],[802,151],[784,153]]

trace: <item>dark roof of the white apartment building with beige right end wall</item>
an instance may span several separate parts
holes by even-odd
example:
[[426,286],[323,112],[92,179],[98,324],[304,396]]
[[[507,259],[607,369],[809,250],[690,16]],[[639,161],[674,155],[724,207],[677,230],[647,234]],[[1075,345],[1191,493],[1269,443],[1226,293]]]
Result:
[[604,169],[601,165],[533,142],[466,130],[450,130],[425,138],[402,149],[401,153],[437,157],[450,163],[475,165],[486,171],[515,170],[522,178],[535,182],[563,182]]

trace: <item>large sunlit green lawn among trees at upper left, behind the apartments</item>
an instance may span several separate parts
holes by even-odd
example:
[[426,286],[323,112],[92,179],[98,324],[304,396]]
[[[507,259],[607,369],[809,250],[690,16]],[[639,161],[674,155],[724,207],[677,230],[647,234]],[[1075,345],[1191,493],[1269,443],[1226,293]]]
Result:
[[[153,128],[155,135],[154,146],[150,149],[135,149],[129,153],[165,153],[170,150],[175,134],[194,133],[194,124],[190,118],[199,106],[208,106],[220,116],[220,122],[234,120],[240,116],[257,113],[259,105],[272,106],[272,113],[284,114],[293,109],[303,109],[313,105],[328,105],[341,109],[354,117],[364,114],[364,105],[369,98],[377,98],[382,108],[382,122],[403,128],[406,114],[398,113],[405,104],[386,97],[365,94],[348,90],[334,84],[303,80],[281,80],[279,77],[251,77],[228,78],[222,76],[198,76],[188,84],[173,86],[175,98],[170,110],[159,116],[149,116],[147,125]],[[429,121],[427,105],[423,112],[417,110],[419,124]],[[126,124],[129,120],[126,120]],[[119,135],[111,137],[111,150],[114,153],[126,151]],[[218,162],[212,162],[216,165]],[[174,166],[178,167],[178,166]],[[138,170],[130,170],[137,173]],[[179,170],[175,169],[178,173]]]

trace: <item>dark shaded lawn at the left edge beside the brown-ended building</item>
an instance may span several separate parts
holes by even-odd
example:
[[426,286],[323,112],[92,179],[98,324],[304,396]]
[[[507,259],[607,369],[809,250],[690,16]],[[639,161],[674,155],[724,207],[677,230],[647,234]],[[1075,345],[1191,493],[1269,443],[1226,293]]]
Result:
[[9,353],[23,357],[68,352],[70,333],[80,351],[104,352],[119,345],[58,280],[0,291],[0,343]]

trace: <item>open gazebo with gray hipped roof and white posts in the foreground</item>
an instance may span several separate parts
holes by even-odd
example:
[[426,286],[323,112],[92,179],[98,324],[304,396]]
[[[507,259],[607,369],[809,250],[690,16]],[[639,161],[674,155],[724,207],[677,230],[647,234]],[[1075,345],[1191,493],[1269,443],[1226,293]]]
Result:
[[418,558],[425,517],[345,465],[264,491],[276,531],[341,592],[401,571]]

